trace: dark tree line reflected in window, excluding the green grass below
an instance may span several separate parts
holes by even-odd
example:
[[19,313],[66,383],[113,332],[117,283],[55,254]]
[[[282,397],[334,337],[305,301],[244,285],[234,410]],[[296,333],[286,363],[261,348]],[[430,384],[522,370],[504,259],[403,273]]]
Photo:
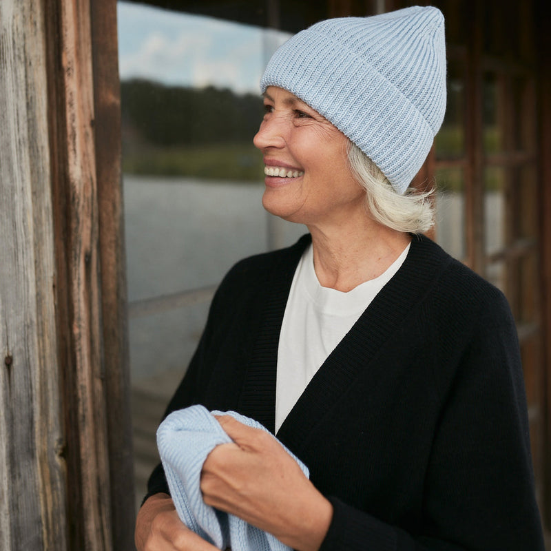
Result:
[[260,96],[137,79],[121,83],[121,107],[123,141],[129,149],[248,143],[262,116]]

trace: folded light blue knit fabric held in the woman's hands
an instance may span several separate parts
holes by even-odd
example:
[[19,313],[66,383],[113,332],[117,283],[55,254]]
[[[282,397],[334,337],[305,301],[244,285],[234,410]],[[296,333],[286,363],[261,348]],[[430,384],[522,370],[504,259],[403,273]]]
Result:
[[[242,519],[207,506],[202,500],[200,476],[207,455],[219,444],[232,440],[214,415],[231,415],[239,422],[266,430],[260,423],[234,411],[212,413],[203,406],[174,411],[157,430],[157,447],[180,520],[200,537],[219,549],[232,551],[288,551],[272,534],[251,526]],[[275,437],[274,437],[275,438]],[[309,471],[297,461],[306,477]]]

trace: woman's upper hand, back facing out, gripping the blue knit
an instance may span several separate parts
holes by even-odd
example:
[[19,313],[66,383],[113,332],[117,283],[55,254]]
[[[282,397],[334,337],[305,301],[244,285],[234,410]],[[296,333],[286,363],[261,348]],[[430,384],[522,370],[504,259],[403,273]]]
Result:
[[203,464],[207,505],[240,517],[289,547],[317,551],[333,507],[269,433],[229,415],[218,422],[233,440],[216,446]]

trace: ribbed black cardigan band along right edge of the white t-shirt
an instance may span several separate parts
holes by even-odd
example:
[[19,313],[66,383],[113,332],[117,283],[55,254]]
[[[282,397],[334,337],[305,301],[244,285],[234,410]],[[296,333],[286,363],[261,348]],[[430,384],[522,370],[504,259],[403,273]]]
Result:
[[450,260],[427,238],[413,238],[402,267],[327,357],[278,430],[278,439],[293,453],[300,454],[315,425],[322,422],[332,404],[360,372],[372,370],[375,384],[377,366],[371,360],[404,322],[408,312],[422,301],[448,263],[446,258]]

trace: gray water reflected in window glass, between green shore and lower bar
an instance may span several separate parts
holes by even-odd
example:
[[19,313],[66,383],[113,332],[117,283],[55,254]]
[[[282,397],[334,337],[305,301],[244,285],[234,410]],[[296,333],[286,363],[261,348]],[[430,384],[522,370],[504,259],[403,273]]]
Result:
[[126,174],[129,300],[218,284],[267,240],[260,185]]

